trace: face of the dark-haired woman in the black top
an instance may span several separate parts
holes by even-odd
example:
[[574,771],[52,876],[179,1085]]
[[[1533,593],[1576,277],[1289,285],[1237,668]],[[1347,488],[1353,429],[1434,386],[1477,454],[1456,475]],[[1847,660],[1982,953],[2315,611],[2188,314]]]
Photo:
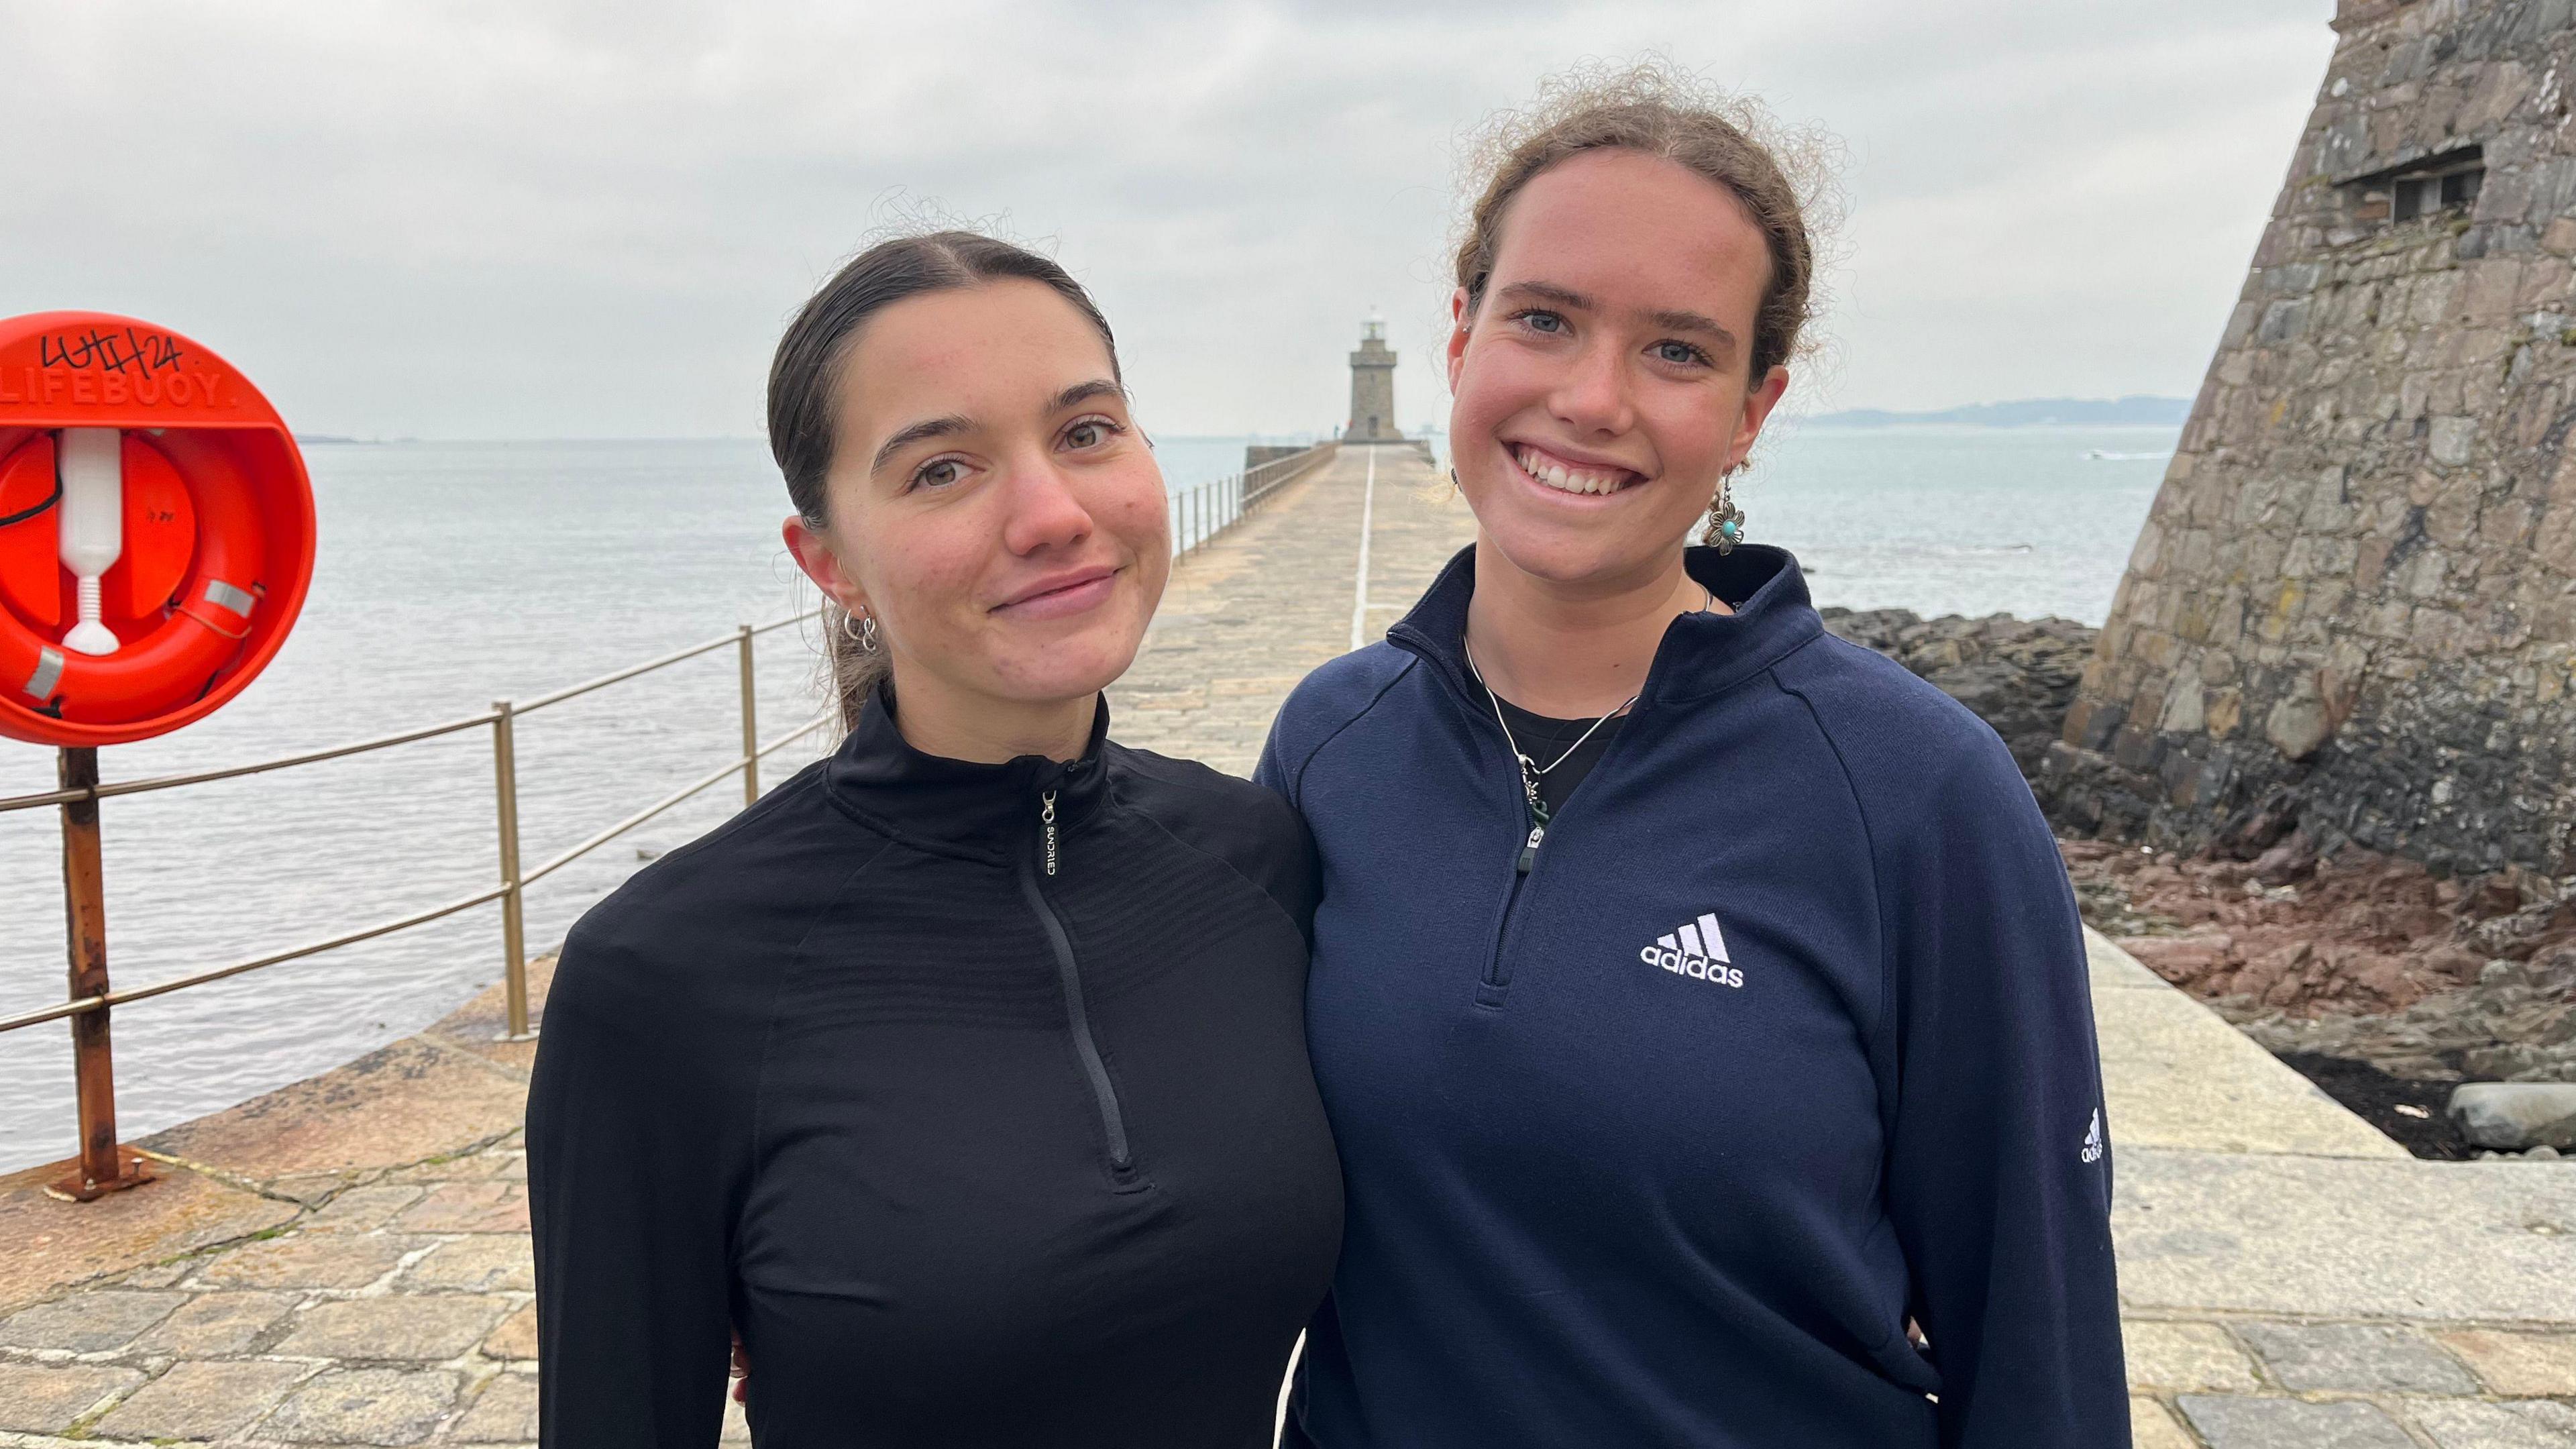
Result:
[[1051,701],[1126,673],[1172,549],[1097,327],[1036,281],[958,286],[868,317],[840,374],[840,578],[806,567],[876,616],[896,683]]

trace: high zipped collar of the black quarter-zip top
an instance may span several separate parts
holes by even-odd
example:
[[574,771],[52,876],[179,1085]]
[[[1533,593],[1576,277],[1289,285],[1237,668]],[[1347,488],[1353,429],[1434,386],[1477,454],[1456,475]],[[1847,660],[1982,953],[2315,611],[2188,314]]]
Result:
[[1077,825],[1108,797],[1108,732],[1110,704],[1103,696],[1077,761],[1020,755],[984,766],[927,755],[894,727],[894,688],[881,681],[858,727],[824,763],[824,786],[853,815],[914,846],[1012,861],[1036,848],[1048,792],[1056,794],[1059,828]]

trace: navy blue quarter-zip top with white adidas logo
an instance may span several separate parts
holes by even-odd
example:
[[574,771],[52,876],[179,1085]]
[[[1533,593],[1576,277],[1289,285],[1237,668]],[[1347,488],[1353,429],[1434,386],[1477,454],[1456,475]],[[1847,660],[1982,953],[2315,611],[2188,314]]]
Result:
[[1785,552],[1687,570],[1736,611],[1674,619],[1535,851],[1463,657],[1473,549],[1273,727],[1347,1183],[1288,1444],[2125,1446],[2048,825]]

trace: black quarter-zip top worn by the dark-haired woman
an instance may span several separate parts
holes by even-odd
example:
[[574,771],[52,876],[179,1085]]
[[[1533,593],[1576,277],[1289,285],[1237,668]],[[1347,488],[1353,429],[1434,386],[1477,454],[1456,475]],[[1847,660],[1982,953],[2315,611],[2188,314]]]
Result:
[[1110,745],[842,748],[592,908],[528,1093],[544,1444],[1255,1446],[1342,1181],[1314,851]]

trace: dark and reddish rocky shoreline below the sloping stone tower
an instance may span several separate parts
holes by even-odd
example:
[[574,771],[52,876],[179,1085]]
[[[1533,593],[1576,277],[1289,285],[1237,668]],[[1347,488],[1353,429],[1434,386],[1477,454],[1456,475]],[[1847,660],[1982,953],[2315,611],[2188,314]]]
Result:
[[[2045,789],[2094,629],[1904,608],[1824,619],[1973,709]],[[2200,856],[2089,838],[2066,820],[2058,841],[2084,920],[2156,975],[2416,1155],[2494,1155],[2429,1104],[2452,1083],[2576,1083],[2576,879],[2460,879],[2352,843],[2318,851],[2293,817],[2236,822]]]

